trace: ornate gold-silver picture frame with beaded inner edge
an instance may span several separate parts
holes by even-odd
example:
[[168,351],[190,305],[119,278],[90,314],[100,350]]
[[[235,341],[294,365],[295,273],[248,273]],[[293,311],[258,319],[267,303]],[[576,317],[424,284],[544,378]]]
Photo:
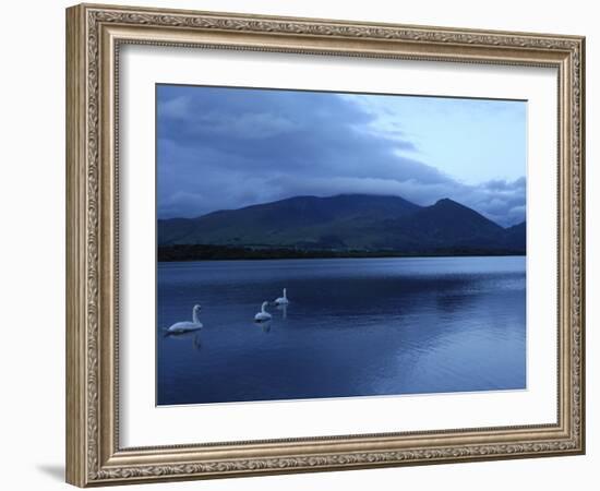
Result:
[[[555,424],[121,448],[118,81],[122,44],[225,47],[559,73]],[[67,480],[86,487],[585,452],[585,38],[82,4],[67,10]]]

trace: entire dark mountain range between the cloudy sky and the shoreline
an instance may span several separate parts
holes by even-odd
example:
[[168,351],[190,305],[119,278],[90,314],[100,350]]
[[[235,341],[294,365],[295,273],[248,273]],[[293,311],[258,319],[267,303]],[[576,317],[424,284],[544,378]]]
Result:
[[158,220],[158,244],[408,254],[525,253],[525,223],[503,228],[444,199],[419,206],[399,196],[296,196]]

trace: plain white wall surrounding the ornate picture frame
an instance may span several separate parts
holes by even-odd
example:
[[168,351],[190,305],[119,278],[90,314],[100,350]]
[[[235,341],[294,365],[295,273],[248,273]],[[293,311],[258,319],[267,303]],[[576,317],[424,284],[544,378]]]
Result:
[[[144,1],[153,7],[219,10],[588,36],[588,217],[600,209],[593,165],[600,131],[600,35],[596,2],[504,0],[363,2],[313,0]],[[64,454],[64,1],[2,5],[0,76],[0,452],[4,489],[51,490]],[[361,470],[156,484],[153,489],[592,489],[600,466],[598,220],[588,219],[588,455],[513,462]],[[8,313],[8,316],[7,316]],[[19,330],[19,332],[17,332]],[[135,487],[137,488],[137,487]],[[149,488],[148,488],[149,489]]]

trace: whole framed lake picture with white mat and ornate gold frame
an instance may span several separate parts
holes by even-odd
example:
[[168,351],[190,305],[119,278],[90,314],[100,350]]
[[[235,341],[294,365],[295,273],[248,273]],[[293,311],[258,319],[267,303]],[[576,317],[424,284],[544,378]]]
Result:
[[68,9],[68,482],[584,453],[584,41]]

